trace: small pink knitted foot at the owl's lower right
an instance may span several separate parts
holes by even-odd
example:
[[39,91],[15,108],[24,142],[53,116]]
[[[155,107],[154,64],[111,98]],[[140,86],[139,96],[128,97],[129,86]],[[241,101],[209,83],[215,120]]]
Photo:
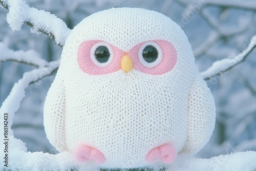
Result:
[[172,163],[177,157],[174,147],[170,144],[164,144],[159,147],[153,148],[150,153],[146,155],[146,160],[154,162],[157,159],[162,160],[164,163]]

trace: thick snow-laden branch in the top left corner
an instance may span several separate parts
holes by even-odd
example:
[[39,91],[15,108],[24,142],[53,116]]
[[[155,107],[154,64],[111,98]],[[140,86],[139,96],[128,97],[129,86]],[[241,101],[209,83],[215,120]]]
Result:
[[71,30],[65,22],[54,14],[31,8],[25,0],[0,0],[0,5],[9,10],[7,22],[13,31],[20,30],[24,24],[32,27],[32,33],[42,32],[63,47]]

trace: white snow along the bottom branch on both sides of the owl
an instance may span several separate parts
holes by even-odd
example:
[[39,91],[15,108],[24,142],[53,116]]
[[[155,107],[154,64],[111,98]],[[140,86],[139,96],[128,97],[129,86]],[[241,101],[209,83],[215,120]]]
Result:
[[[79,163],[75,160],[70,152],[62,152],[57,155],[42,152],[27,152],[25,143],[9,137],[9,148],[12,149],[9,153],[8,169],[10,170],[69,170],[76,169],[77,171],[93,171],[99,168],[91,163]],[[1,156],[2,158],[2,156]],[[166,171],[170,170],[252,170],[256,168],[256,152],[239,152],[228,155],[220,155],[210,159],[194,158],[187,154],[179,155],[176,161],[172,164],[160,165],[157,163],[153,168],[165,167]],[[1,165],[0,169],[6,168]]]

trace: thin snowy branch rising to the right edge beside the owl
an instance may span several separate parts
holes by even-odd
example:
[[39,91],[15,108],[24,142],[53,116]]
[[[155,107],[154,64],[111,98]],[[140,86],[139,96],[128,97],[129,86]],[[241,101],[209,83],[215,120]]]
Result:
[[239,53],[233,58],[225,58],[212,63],[212,66],[206,71],[201,72],[201,75],[205,80],[207,80],[233,68],[234,66],[238,65],[238,63],[242,62],[255,47],[256,35],[251,38],[250,44],[243,52]]

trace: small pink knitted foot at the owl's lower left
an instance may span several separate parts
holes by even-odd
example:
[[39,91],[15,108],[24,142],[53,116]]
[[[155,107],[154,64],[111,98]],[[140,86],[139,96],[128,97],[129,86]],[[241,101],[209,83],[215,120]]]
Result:
[[96,163],[103,163],[106,160],[98,149],[86,145],[79,145],[74,151],[74,156],[79,162],[92,159]]

